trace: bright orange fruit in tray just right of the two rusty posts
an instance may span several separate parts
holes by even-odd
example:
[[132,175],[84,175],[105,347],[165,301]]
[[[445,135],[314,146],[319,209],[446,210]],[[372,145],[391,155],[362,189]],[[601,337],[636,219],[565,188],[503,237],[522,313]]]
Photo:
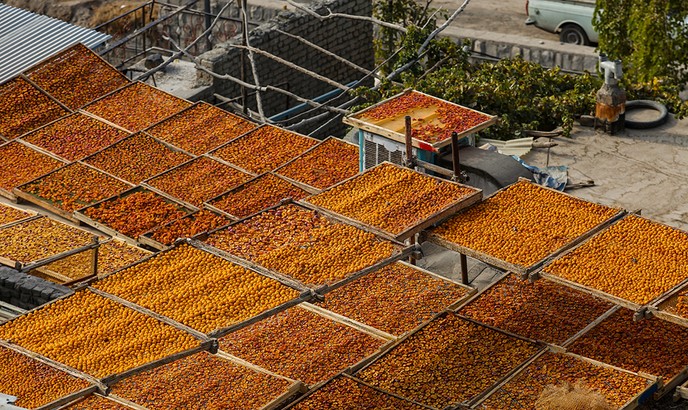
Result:
[[529,267],[618,209],[519,181],[433,230],[440,239]]

